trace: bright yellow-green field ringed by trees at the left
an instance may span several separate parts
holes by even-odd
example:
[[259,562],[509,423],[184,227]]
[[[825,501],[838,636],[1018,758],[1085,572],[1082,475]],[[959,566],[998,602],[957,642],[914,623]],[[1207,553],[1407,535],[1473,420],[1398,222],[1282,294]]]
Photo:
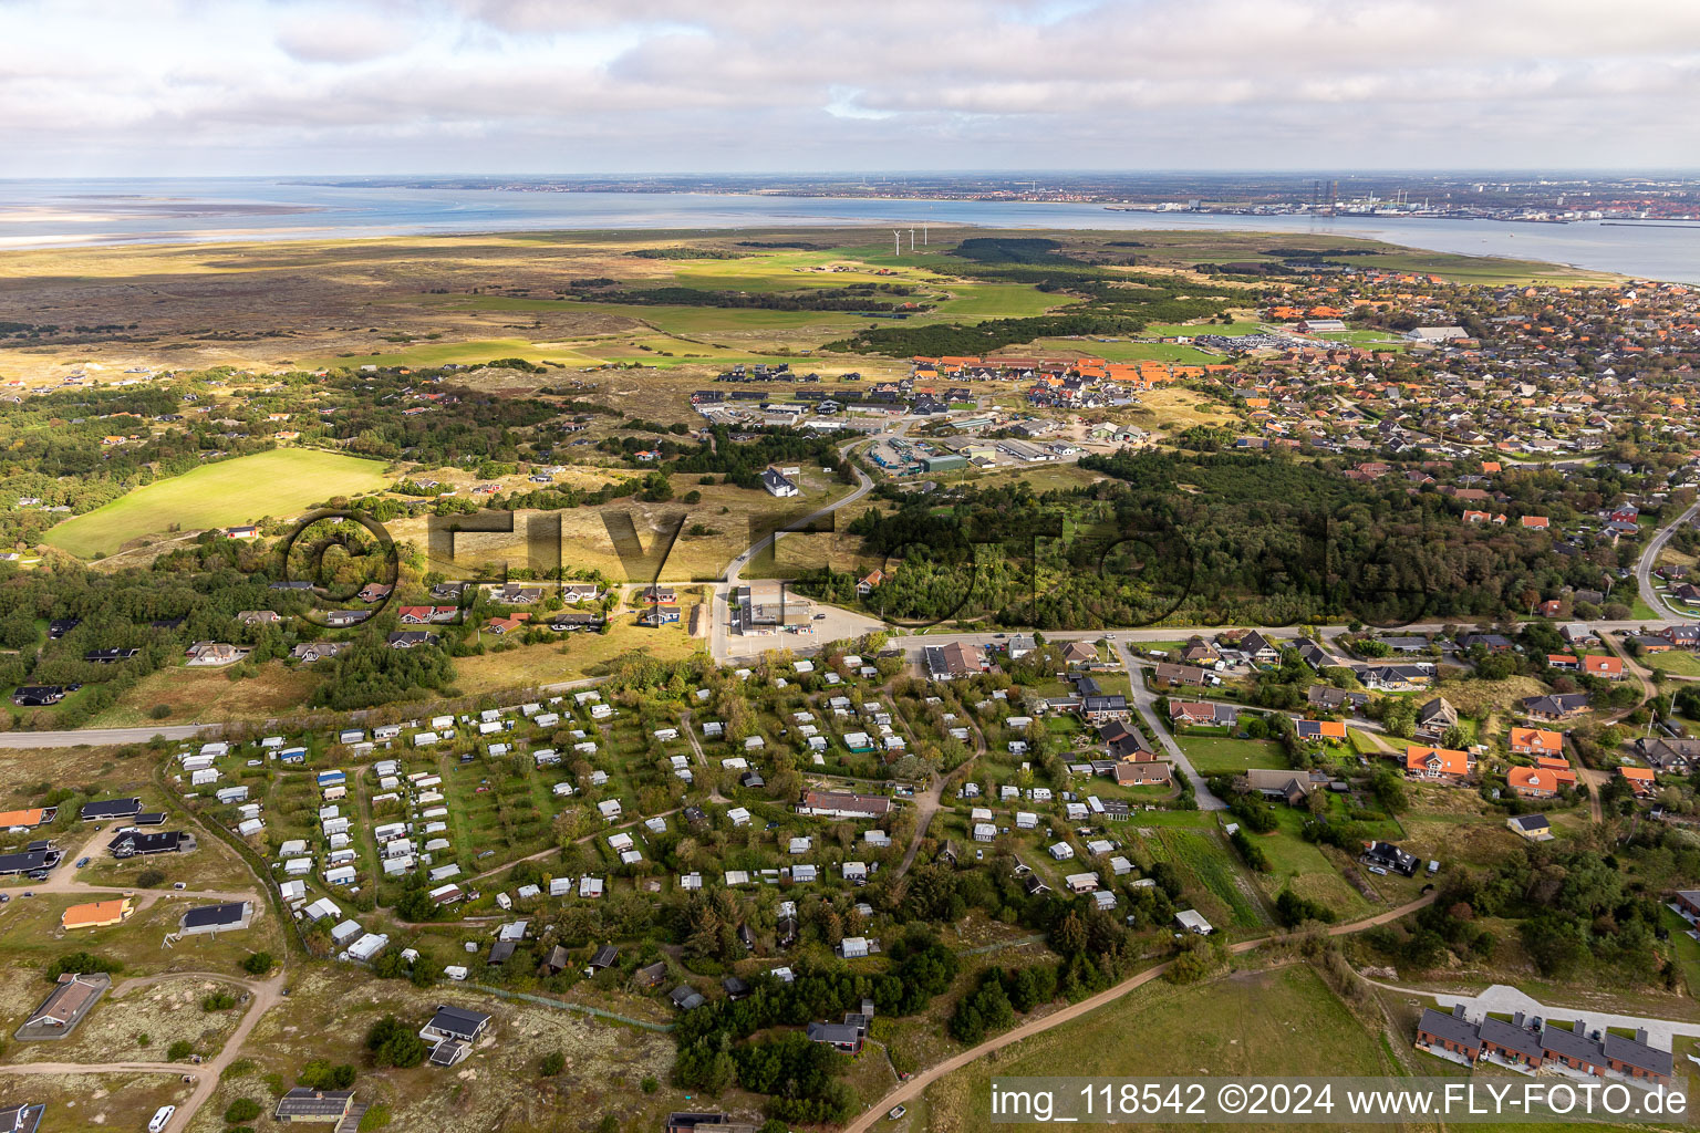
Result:
[[377,460],[313,448],[274,448],[221,460],[138,488],[88,515],[60,523],[44,542],[73,555],[112,554],[126,542],[165,532],[282,518],[308,506],[389,484]]

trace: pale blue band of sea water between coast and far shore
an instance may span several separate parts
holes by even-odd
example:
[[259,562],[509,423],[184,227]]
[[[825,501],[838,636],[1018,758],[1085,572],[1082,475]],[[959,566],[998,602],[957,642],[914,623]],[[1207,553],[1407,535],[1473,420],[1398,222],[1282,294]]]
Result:
[[[326,189],[296,182],[156,178],[8,185],[0,255],[49,248],[345,241],[518,233],[726,233],[882,228],[1243,231],[1374,240],[1414,251],[1700,284],[1700,224],[1513,224],[1464,217],[1365,217],[1110,209],[1093,202],[867,199],[707,192],[507,192]],[[110,207],[107,207],[110,204]],[[53,219],[58,216],[60,219]],[[75,219],[71,219],[75,217]],[[1445,223],[1425,223],[1440,221]],[[235,221],[235,223],[233,223]],[[1397,221],[1397,223],[1391,223]],[[1639,231],[1647,229],[1647,231]]]

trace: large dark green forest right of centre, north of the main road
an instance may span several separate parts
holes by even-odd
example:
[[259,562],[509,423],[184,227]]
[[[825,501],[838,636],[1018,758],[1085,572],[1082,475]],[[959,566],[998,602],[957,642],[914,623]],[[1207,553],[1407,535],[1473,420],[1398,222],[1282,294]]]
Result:
[[[1617,566],[1615,549],[1559,555],[1545,532],[1464,525],[1447,496],[1312,464],[1146,452],[1081,467],[1114,479],[967,489],[945,506],[891,493],[896,511],[850,523],[872,557],[901,562],[865,605],[910,623],[1396,627],[1527,613],[1530,593],[1596,586]],[[797,581],[840,600],[855,583]]]

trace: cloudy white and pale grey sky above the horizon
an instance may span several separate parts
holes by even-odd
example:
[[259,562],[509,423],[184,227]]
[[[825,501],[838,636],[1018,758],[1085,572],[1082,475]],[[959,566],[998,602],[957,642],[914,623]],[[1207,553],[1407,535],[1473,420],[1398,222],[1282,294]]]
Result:
[[1700,166],[1700,0],[0,0],[0,177]]

